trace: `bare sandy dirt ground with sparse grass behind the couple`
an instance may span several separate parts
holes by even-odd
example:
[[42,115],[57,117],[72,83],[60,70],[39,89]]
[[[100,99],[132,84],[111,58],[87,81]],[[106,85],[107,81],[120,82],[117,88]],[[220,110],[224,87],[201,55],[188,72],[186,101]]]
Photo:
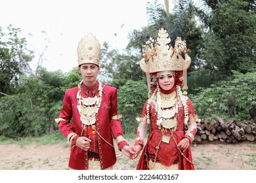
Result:
[[[133,141],[130,141],[133,144]],[[66,142],[54,145],[0,144],[1,170],[65,170],[70,155]],[[117,152],[114,169],[134,170],[139,158],[131,161]],[[256,143],[192,144],[192,158],[198,170],[255,170]]]

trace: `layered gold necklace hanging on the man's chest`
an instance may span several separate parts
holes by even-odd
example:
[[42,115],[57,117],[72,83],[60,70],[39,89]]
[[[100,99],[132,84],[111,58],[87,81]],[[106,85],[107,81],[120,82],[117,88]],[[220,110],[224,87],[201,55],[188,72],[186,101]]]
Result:
[[98,81],[98,96],[84,98],[81,95],[81,85],[83,80],[78,84],[77,91],[77,109],[80,114],[80,120],[85,125],[93,125],[96,123],[96,114],[100,108],[102,99],[102,84]]

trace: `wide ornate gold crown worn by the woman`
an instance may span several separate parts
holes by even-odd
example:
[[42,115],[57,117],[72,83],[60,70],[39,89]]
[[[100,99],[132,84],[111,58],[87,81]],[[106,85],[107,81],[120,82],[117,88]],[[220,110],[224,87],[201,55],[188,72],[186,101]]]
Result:
[[[183,71],[188,69],[191,63],[190,56],[186,54],[186,41],[181,37],[175,40],[175,47],[168,45],[171,39],[165,29],[161,28],[157,42],[154,39],[146,41],[142,47],[143,58],[140,60],[140,68],[144,73],[156,73],[160,71]],[[184,58],[181,53],[183,52]]]

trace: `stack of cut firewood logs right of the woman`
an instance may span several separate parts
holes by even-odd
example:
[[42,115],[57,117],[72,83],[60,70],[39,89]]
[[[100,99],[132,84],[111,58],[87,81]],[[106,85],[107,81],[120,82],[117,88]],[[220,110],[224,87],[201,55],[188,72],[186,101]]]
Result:
[[224,122],[222,118],[201,120],[201,122],[198,122],[197,130],[194,142],[202,142],[204,140],[228,143],[256,141],[255,122],[239,122],[236,120]]

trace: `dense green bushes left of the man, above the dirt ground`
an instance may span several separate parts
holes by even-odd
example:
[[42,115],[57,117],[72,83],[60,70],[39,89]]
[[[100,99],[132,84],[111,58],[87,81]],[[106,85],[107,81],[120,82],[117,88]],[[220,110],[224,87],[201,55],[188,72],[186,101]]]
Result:
[[62,107],[63,75],[39,69],[20,79],[19,93],[0,98],[0,135],[38,136],[58,129],[54,118]]

